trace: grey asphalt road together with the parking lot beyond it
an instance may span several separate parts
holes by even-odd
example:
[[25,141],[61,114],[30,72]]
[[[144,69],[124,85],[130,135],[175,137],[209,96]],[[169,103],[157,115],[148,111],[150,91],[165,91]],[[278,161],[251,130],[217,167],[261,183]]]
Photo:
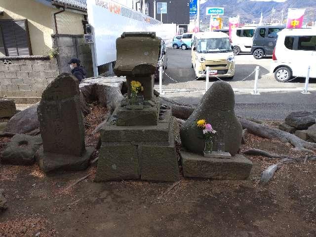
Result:
[[[168,49],[168,74],[163,77],[163,96],[177,99],[185,103],[198,104],[203,96],[205,80],[194,80],[194,70],[191,68],[191,51]],[[291,82],[278,82],[269,74],[271,58],[256,60],[252,55],[236,56],[236,74],[233,80],[228,81],[235,90],[235,112],[240,116],[249,116],[260,119],[284,119],[294,111],[316,111],[316,79],[309,84],[310,94],[302,94],[305,79],[295,79]],[[260,95],[252,95],[254,75],[241,81],[260,66],[259,88],[267,88]],[[210,79],[210,85],[216,81]],[[155,88],[158,89],[158,83]],[[183,89],[199,89],[185,91]],[[180,90],[179,90],[180,89]]]

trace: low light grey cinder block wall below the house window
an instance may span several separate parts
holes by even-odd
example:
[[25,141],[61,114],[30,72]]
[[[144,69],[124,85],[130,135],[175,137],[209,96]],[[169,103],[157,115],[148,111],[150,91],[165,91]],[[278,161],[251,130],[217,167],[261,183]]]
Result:
[[0,96],[40,97],[46,86],[58,75],[55,58],[0,57]]

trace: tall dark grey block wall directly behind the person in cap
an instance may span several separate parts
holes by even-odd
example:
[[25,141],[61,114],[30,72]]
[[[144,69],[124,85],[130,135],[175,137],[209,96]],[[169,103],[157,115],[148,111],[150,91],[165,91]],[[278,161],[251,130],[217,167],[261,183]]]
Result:
[[91,46],[84,42],[82,35],[55,35],[54,45],[59,48],[57,61],[60,73],[70,72],[67,63],[71,58],[79,58],[87,77],[93,76]]

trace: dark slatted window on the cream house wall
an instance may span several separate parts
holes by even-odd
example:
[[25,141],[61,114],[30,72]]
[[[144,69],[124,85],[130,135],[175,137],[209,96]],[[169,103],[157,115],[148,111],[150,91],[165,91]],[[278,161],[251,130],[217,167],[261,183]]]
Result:
[[0,20],[6,56],[32,55],[27,20]]

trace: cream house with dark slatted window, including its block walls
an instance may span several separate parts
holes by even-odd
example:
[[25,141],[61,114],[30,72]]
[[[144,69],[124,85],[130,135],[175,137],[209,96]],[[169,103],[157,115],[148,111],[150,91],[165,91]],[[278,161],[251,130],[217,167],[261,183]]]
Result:
[[0,0],[0,96],[39,97],[72,57],[92,75],[86,23],[86,0]]

